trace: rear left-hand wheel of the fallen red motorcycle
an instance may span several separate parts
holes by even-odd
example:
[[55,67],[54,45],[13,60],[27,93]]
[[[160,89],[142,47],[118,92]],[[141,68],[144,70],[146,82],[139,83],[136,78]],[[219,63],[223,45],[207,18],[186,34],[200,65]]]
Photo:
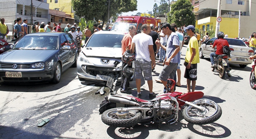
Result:
[[103,123],[115,127],[131,127],[137,125],[141,119],[142,114],[140,111],[117,111],[121,108],[111,108],[106,110],[101,115]]

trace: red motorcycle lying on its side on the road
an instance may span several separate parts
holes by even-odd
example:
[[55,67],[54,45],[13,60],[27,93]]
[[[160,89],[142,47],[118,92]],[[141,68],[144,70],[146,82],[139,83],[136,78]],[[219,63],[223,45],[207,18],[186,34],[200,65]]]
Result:
[[[133,96],[112,95],[100,104],[101,120],[109,126],[131,127],[137,124],[173,124],[178,120],[179,110],[183,118],[192,124],[209,124],[222,115],[221,107],[210,99],[199,99],[203,92],[171,92],[175,81],[168,79],[167,92],[152,100]],[[197,100],[199,99],[199,100]],[[194,102],[191,102],[194,101]],[[185,108],[183,106],[187,105]]]

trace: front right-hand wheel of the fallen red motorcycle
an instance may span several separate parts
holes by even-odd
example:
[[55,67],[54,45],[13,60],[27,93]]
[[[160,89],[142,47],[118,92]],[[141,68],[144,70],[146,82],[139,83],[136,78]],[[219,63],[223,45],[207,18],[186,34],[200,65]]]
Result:
[[183,110],[183,118],[192,124],[209,124],[217,121],[222,115],[221,107],[210,99],[199,99],[192,102],[195,105],[204,107],[199,110],[193,106],[186,106]]

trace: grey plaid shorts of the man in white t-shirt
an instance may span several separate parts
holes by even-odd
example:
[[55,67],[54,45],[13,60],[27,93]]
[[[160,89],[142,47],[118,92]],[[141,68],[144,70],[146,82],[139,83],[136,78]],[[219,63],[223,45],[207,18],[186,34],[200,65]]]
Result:
[[145,59],[135,59],[135,79],[141,79],[142,72],[144,75],[144,80],[152,80],[152,66],[151,61],[146,61]]

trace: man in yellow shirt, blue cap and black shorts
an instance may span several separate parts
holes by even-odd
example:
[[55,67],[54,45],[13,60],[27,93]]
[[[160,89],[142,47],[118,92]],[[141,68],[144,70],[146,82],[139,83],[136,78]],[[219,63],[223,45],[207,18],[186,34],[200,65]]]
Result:
[[190,83],[192,81],[192,92],[195,92],[196,80],[197,80],[197,63],[199,63],[199,49],[198,41],[194,36],[195,27],[193,25],[188,25],[185,27],[187,35],[189,35],[190,40],[188,42],[188,48],[185,56],[186,66],[184,78],[187,78],[187,92],[190,91]]

